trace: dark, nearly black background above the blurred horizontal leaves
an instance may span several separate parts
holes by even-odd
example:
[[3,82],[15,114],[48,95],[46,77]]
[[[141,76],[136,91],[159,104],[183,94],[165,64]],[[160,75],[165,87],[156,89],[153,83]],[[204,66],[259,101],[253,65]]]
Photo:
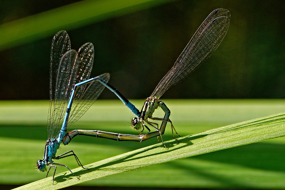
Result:
[[[76,1],[1,1],[0,24],[71,2]],[[284,98],[283,1],[174,1],[67,33],[73,49],[85,42],[94,44],[92,77],[109,72],[109,83],[126,98],[144,99],[217,8],[231,13],[223,42],[197,71],[162,98]],[[49,99],[52,37],[0,52],[0,99]],[[116,96],[105,90],[99,98]]]

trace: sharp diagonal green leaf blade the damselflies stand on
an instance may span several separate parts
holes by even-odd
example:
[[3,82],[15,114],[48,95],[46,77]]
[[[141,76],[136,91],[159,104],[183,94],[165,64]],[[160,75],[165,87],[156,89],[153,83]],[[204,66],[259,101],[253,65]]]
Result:
[[63,172],[55,176],[55,185],[52,185],[52,177],[48,177],[16,189],[59,189],[155,164],[282,137],[285,136],[284,121],[285,114],[281,113],[215,128],[181,137],[178,139],[179,143],[174,139],[167,141],[165,142],[167,148],[161,143],[155,144],[88,164],[86,167],[89,170],[82,168],[72,170],[80,180],[70,172]]

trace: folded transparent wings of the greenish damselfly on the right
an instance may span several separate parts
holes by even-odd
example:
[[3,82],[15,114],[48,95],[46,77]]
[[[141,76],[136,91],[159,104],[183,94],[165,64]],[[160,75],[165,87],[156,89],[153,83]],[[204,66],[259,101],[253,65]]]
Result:
[[171,86],[181,82],[218,48],[230,25],[230,11],[214,10],[201,24],[174,66],[161,79],[151,98],[159,99]]

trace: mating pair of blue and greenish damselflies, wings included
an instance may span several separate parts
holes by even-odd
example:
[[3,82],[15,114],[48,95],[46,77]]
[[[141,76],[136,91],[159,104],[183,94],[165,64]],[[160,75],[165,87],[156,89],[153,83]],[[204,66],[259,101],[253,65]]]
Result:
[[[141,110],[138,110],[115,87],[108,83],[110,77],[108,73],[89,79],[94,59],[94,47],[92,43],[85,43],[79,48],[79,51],[71,50],[70,40],[66,31],[59,31],[54,36],[51,45],[51,101],[48,114],[48,140],[43,160],[38,160],[37,162],[39,171],[46,171],[47,166],[49,167],[48,172],[51,168],[55,168],[53,174],[54,184],[57,166],[64,166],[70,172],[71,170],[66,165],[55,163],[53,160],[74,156],[78,165],[84,168],[72,150],[56,156],[60,144],[69,144],[71,139],[77,135],[101,137],[118,141],[142,142],[152,137],[161,137],[165,132],[167,123],[171,124],[173,135],[173,130],[175,132],[176,130],[169,119],[170,110],[165,103],[158,101],[158,99],[169,87],[181,82],[181,80],[193,73],[201,63],[212,55],[225,37],[229,24],[230,12],[228,10],[214,10],[198,28],[176,60],[174,66],[160,81],[152,95],[145,100]],[[97,130],[73,130],[67,132],[67,127],[75,123],[88,110],[105,87],[115,93],[132,113],[136,115],[131,121],[131,126],[136,130],[141,129],[140,134],[119,134]],[[158,107],[161,107],[165,112],[162,118],[153,117],[153,113]],[[161,122],[161,126],[159,127],[157,123],[150,122],[149,119]],[[148,132],[142,134],[145,128]],[[154,131],[151,131],[152,128]],[[73,174],[73,172],[71,173]]]

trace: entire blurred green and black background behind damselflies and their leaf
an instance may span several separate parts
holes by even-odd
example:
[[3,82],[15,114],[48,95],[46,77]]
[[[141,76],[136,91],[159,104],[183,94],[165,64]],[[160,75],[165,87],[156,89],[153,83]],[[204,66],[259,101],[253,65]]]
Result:
[[[177,131],[182,136],[189,135],[284,112],[284,100],[279,99],[285,94],[284,5],[283,1],[264,0],[2,0],[0,99],[49,98],[51,40],[59,30],[67,30],[73,49],[78,50],[85,42],[94,44],[92,76],[109,72],[110,83],[126,98],[145,99],[204,19],[213,10],[225,8],[230,10],[231,19],[221,45],[197,71],[162,96],[168,99],[165,103],[172,111]],[[230,100],[211,100],[222,98]],[[117,98],[105,90],[99,99]],[[140,108],[143,100],[134,104]],[[90,109],[71,129],[136,134],[126,127],[133,114],[119,100],[98,100]],[[0,102],[3,145],[0,184],[7,184],[1,185],[1,189],[45,177],[32,170],[32,166],[43,155],[47,110],[48,101]],[[164,138],[172,138],[169,128]],[[68,147],[61,147],[60,153],[72,149],[87,164],[156,142],[155,138],[139,144],[81,137]],[[108,186],[284,189],[284,146],[284,138],[273,139],[82,185],[107,186],[105,189]],[[73,159],[64,160],[64,164],[77,167]],[[65,168],[59,169],[64,171]]]

